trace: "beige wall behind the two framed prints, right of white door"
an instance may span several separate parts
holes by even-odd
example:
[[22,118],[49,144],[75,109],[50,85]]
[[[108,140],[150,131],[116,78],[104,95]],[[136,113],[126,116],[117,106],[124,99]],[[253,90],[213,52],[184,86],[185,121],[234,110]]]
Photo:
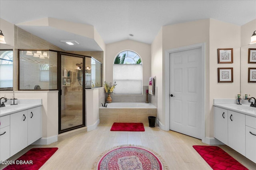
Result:
[[[206,136],[214,137],[213,100],[235,99],[240,93],[240,32],[241,27],[210,19],[210,110],[206,110]],[[219,48],[233,48],[233,63],[218,64]],[[218,68],[232,67],[233,82],[218,83]],[[210,111],[210,113],[209,113]]]

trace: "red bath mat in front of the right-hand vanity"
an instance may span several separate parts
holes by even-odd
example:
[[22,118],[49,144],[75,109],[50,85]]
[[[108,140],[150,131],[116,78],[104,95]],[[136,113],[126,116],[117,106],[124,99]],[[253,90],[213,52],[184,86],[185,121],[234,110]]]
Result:
[[193,148],[213,170],[248,170],[220,147],[194,145]]

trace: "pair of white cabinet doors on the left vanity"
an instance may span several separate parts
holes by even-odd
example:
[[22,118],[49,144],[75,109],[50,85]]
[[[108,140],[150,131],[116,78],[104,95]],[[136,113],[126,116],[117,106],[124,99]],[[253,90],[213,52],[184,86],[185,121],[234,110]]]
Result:
[[42,137],[41,106],[10,115],[10,156]]

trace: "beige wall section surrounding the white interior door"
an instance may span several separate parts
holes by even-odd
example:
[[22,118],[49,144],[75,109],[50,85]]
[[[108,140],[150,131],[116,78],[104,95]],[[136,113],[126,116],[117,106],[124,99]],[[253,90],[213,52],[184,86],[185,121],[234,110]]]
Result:
[[[208,101],[209,101],[209,80],[210,80],[210,73],[209,73],[209,29],[210,29],[210,19],[205,20],[198,20],[198,21],[192,21],[192,22],[186,22],[186,23],[179,23],[174,25],[168,25],[163,27],[163,59],[165,58],[165,51],[169,49],[174,49],[178,47],[184,47],[188,45],[198,44],[198,43],[205,43],[205,101],[206,101],[206,111],[208,110],[207,107],[209,107]],[[165,94],[169,93],[165,92],[165,74],[169,74],[168,72],[165,72],[164,70],[164,64],[165,60],[163,60],[163,81],[162,81],[162,94],[160,92],[160,88],[158,88],[158,108],[161,107],[162,118],[160,119],[161,123],[166,125],[166,121],[169,122],[169,120],[165,119],[166,113],[165,110]],[[159,100],[162,98],[162,102],[160,103]],[[161,105],[160,105],[160,104]],[[208,113],[208,111],[206,112]],[[169,127],[166,127],[168,129]]]

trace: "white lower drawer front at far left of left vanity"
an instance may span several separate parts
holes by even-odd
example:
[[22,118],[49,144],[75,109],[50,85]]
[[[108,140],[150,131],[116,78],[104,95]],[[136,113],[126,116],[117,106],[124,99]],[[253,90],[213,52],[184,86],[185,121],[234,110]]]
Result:
[[10,126],[0,129],[0,160],[10,158]]

